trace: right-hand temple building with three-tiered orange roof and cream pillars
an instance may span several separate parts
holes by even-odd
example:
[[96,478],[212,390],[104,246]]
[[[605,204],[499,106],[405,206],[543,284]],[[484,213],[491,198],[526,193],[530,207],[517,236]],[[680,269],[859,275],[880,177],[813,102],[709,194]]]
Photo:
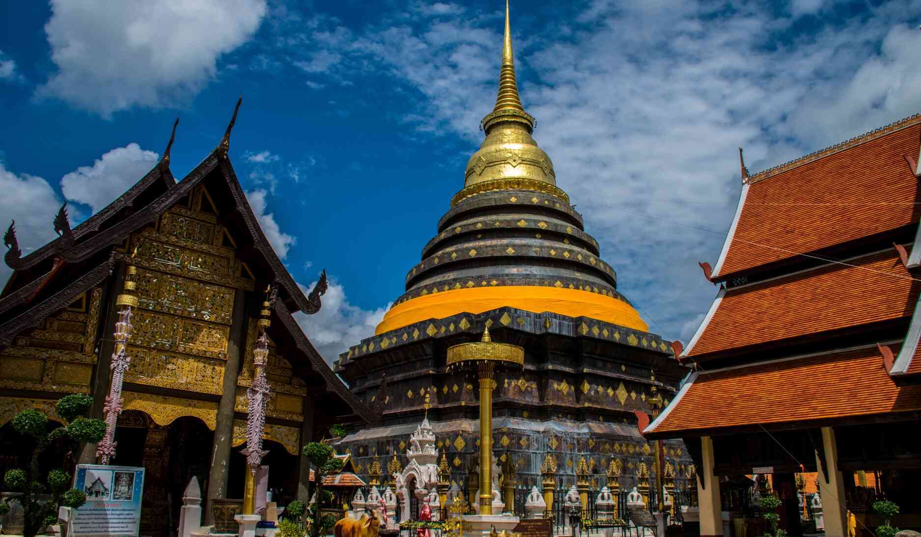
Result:
[[919,140],[915,115],[761,173],[742,162],[729,236],[701,263],[719,290],[680,356],[694,373],[646,428],[694,457],[701,535],[723,534],[721,482],[752,473],[772,473],[789,534],[801,472],[827,535],[848,510],[869,535],[883,496],[893,526],[921,529]]

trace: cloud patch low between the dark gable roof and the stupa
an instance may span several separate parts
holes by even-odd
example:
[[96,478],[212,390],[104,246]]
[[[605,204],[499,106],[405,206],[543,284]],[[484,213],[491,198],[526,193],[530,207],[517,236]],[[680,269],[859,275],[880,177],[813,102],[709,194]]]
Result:
[[[302,286],[304,293],[309,293],[316,284],[313,282],[309,287]],[[322,302],[323,307],[317,313],[306,315],[298,312],[295,319],[304,329],[310,343],[317,347],[329,364],[339,359],[339,354],[348,350],[350,345],[374,335],[375,327],[391,307],[390,304],[378,309],[353,306],[345,296],[344,287],[332,277]]]

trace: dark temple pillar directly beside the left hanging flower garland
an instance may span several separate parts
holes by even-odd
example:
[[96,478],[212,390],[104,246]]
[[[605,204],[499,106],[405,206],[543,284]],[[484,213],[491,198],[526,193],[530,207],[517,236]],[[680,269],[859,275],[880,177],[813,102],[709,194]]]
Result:
[[[115,349],[115,341],[111,337],[111,331],[118,321],[118,308],[115,306],[115,297],[119,289],[124,286],[124,273],[127,265],[119,262],[115,269],[115,274],[109,282],[109,288],[102,295],[102,304],[105,305],[105,314],[99,320],[97,334],[102,334],[97,339],[99,342],[99,353],[96,355],[96,368],[93,370],[93,383],[90,387],[93,395],[93,406],[89,409],[89,417],[102,419],[102,409],[106,405],[106,395],[109,395],[109,381],[111,379],[111,361],[112,352]],[[108,334],[108,335],[107,335]],[[80,450],[80,456],[77,459],[79,464],[96,464],[96,444],[84,444]]]

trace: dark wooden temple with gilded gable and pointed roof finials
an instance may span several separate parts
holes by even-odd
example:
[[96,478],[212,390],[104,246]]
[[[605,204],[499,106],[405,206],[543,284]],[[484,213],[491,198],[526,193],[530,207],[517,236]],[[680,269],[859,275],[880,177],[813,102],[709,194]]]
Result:
[[[7,424],[20,410],[38,408],[53,420],[55,400],[81,392],[94,398],[93,417],[102,416],[115,298],[127,292],[130,273],[137,307],[112,463],[147,469],[145,535],[175,530],[192,476],[207,492],[206,519],[209,502],[242,497],[239,447],[267,286],[277,297],[263,464],[285,469],[270,472],[270,488],[306,502],[301,446],[334,423],[372,420],[292,317],[321,308],[325,274],[305,296],[275,255],[227,157],[233,123],[181,181],[169,169],[171,137],[154,169],[76,228],[62,207],[52,242],[24,255],[14,225],[4,239],[15,272],[0,294],[0,473],[29,456],[30,443]],[[95,447],[74,460],[95,462]]]

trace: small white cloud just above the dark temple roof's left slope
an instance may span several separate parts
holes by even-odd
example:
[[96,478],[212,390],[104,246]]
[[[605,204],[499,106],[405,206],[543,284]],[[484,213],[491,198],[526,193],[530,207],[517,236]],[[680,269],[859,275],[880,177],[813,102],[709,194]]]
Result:
[[158,158],[157,153],[134,143],[116,147],[97,158],[92,166],[81,166],[64,175],[61,190],[68,200],[87,204],[96,213],[140,181]]

